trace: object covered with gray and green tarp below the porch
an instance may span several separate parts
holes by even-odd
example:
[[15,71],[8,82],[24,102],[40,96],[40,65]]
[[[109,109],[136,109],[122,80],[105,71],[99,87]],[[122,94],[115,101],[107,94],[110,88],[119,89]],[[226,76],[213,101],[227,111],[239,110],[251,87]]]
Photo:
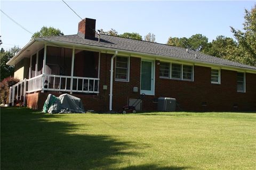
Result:
[[59,97],[49,94],[45,100],[43,112],[85,113],[82,100],[69,94],[63,94]]

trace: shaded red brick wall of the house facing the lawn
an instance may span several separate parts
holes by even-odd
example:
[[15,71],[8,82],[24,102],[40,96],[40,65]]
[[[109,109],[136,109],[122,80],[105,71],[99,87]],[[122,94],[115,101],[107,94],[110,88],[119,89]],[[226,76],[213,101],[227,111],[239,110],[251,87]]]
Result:
[[[83,100],[85,109],[94,111],[109,110],[110,60],[109,54],[101,54],[99,95],[76,95]],[[181,81],[159,78],[159,65],[155,62],[155,96],[146,96],[142,101],[143,111],[156,111],[158,97],[176,98],[182,111],[256,111],[256,74],[246,73],[246,92],[237,92],[236,71],[221,70],[221,84],[211,83],[211,68],[194,66],[194,81]],[[113,81],[113,110],[120,111],[130,98],[139,98],[139,92],[133,92],[133,87],[140,90],[141,59],[130,57],[130,81]],[[103,85],[107,90],[103,90]],[[28,106],[43,108],[47,98],[45,94],[30,94],[27,96]],[[53,94],[59,96],[60,94]],[[39,100],[39,103],[37,103]],[[206,103],[207,106],[202,106]],[[238,108],[234,108],[234,104]],[[179,108],[177,108],[180,111]]]

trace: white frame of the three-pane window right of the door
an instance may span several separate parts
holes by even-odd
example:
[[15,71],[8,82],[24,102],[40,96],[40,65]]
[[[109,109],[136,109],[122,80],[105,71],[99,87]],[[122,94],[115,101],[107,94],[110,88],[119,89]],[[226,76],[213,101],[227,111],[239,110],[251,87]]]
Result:
[[[178,63],[178,62],[166,62],[166,61],[159,61],[159,63],[169,63],[170,64],[170,70],[169,70],[169,78],[167,77],[162,77],[159,75],[159,78],[162,78],[162,79],[172,79],[172,80],[182,80],[182,81],[194,81],[194,65],[193,64],[189,64],[189,63],[186,63],[186,64],[183,64],[183,63]],[[172,78],[172,64],[178,64],[178,65],[181,65],[181,78]],[[191,66],[192,69],[191,69],[191,79],[184,79],[183,78],[183,65],[186,65],[186,66]]]

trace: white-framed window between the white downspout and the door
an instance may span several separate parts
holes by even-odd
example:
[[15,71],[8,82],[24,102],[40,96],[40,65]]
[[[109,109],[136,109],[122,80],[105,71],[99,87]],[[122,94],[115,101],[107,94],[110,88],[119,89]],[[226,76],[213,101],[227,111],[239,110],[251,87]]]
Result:
[[129,81],[129,57],[116,57],[116,80]]

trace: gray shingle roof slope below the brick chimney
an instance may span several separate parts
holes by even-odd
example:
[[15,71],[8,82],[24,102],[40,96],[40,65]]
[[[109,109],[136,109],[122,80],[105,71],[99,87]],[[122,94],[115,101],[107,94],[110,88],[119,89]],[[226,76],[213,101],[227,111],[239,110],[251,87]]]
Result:
[[[256,67],[254,66],[240,64],[229,60],[223,60],[222,58],[202,54],[199,52],[194,52],[193,50],[189,50],[189,53],[187,53],[186,49],[181,47],[173,47],[165,44],[151,43],[148,41],[134,40],[116,36],[101,35],[100,42],[98,42],[98,37],[95,39],[85,39],[82,37],[82,35],[54,36],[44,37],[42,39],[61,41],[65,43],[75,43],[81,45],[128,50],[132,52],[139,52],[145,54],[174,57],[177,59],[181,58],[183,60],[192,60],[204,63],[228,65],[256,70]],[[195,55],[197,57],[195,57]]]

